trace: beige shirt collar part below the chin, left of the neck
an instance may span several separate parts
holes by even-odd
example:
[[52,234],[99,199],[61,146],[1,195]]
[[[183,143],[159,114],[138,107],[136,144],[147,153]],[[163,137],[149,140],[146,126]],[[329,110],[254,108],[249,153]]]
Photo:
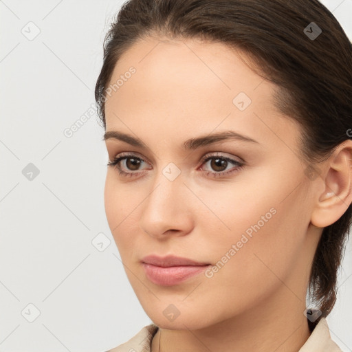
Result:
[[159,328],[153,323],[146,325],[133,338],[106,352],[150,352],[151,340],[157,329]]

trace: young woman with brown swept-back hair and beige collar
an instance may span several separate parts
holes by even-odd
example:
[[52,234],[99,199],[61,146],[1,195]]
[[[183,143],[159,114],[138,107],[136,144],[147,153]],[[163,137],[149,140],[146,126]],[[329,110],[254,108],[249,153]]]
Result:
[[122,5],[96,84],[104,201],[153,323],[111,351],[341,351],[351,58],[317,0]]

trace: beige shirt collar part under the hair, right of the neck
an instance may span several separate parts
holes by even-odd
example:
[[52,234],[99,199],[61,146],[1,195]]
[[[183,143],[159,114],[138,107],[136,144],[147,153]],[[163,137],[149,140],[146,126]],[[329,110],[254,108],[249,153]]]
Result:
[[338,344],[331,339],[326,318],[321,318],[298,352],[342,352]]

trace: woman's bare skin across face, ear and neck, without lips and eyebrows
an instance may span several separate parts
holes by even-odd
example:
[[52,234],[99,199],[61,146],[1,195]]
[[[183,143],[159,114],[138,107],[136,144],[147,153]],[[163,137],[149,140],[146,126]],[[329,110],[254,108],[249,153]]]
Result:
[[[319,164],[319,177],[307,177],[298,124],[274,108],[274,85],[239,54],[221,43],[148,37],[113,71],[111,83],[136,69],[107,98],[107,131],[138,137],[148,149],[106,140],[109,160],[131,152],[144,162],[120,162],[126,172],[142,171],[132,177],[108,167],[105,210],[129,282],[159,327],[153,352],[160,336],[163,352],[298,351],[309,338],[303,312],[322,228],[351,203],[351,141]],[[252,100],[244,111],[232,102],[241,91]],[[227,130],[258,143],[182,148],[189,138]],[[245,165],[201,164],[215,153]],[[170,162],[181,170],[173,181],[162,173]],[[222,170],[234,172],[207,175]],[[211,278],[167,287],[146,277],[140,261],[148,254],[216,265],[271,208],[271,219]],[[163,314],[170,304],[179,311],[173,321]]]

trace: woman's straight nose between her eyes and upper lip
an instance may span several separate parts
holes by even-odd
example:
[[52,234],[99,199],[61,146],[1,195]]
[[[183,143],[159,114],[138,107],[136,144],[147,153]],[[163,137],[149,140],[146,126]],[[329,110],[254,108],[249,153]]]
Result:
[[150,236],[159,239],[184,236],[193,228],[190,197],[192,192],[184,185],[182,178],[170,181],[160,172],[145,201],[141,204],[140,227]]

